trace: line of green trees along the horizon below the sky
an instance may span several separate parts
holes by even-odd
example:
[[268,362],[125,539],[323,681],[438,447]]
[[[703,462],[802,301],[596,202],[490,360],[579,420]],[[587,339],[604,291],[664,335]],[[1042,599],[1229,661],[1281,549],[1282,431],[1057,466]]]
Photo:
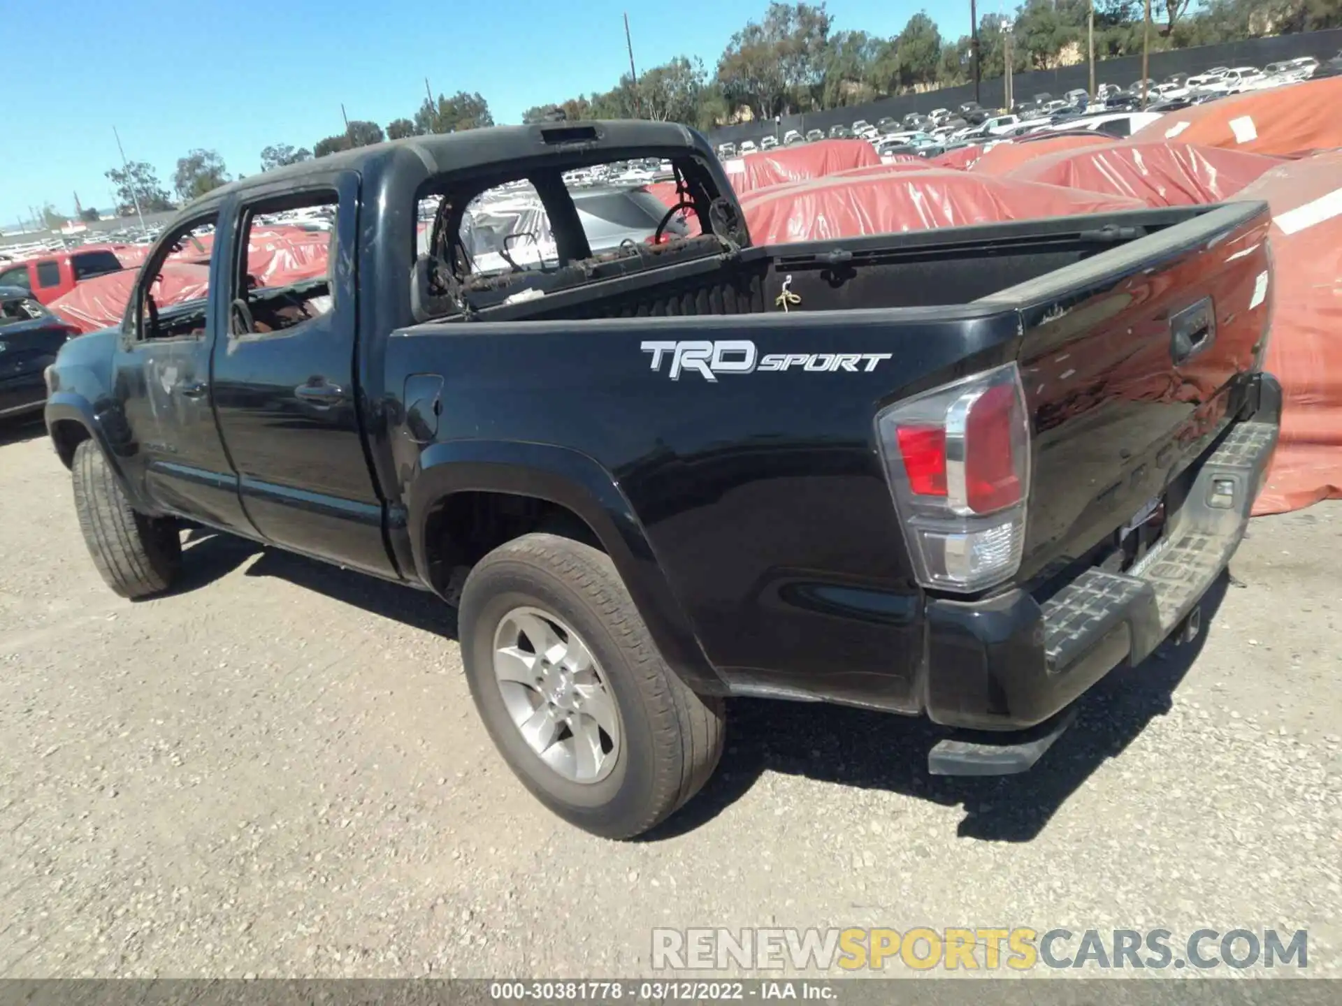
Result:
[[[1016,72],[1083,62],[1090,3],[1025,0],[1009,19],[985,13],[978,21],[980,75],[1001,76],[1008,52]],[[1095,58],[1141,54],[1142,0],[1094,4]],[[1342,27],[1342,0],[1151,0],[1151,21],[1153,51],[1189,48]],[[833,31],[824,3],[772,0],[758,20],[731,35],[711,70],[698,56],[676,56],[644,70],[637,79],[621,75],[608,91],[557,98],[527,109],[522,118],[539,122],[562,111],[569,119],[644,118],[707,130],[747,114],[773,118],[863,105],[886,95],[954,87],[972,76],[969,36],[943,36],[925,11],[910,17],[898,35],[883,38],[866,31]],[[385,129],[352,119],[344,131],[322,137],[311,148],[267,146],[260,152],[260,169],[385,139],[493,125],[490,105],[476,91],[439,94],[436,99],[425,95],[413,115],[392,119]],[[144,212],[168,209],[173,196],[188,201],[229,181],[215,150],[192,150],[180,158],[172,193],[144,161],[111,169],[107,177],[117,190],[118,209],[125,213],[133,212],[134,197]]]

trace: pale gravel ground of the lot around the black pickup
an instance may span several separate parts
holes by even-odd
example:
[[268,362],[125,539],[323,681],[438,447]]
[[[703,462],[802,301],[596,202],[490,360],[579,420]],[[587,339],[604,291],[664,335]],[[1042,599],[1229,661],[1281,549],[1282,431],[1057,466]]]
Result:
[[1029,775],[741,702],[635,844],[514,782],[429,598],[207,537],[119,601],[40,428],[0,431],[0,976],[628,976],[651,927],[770,924],[1308,928],[1342,971],[1342,504],[1256,520],[1201,645]]

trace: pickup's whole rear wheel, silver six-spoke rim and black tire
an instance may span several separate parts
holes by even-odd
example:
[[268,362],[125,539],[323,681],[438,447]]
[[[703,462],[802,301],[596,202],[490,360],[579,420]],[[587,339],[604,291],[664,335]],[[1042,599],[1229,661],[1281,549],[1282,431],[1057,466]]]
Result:
[[609,557],[529,534],[486,555],[462,590],[471,696],[522,783],[566,821],[632,838],[707,782],[719,699],[658,653]]

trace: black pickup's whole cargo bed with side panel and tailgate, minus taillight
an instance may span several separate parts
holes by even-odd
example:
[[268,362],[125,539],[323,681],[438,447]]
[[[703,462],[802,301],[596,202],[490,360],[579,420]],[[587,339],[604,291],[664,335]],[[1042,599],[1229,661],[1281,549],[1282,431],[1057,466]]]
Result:
[[[986,596],[943,600],[1009,588],[1044,604],[1087,570],[1122,573],[1139,557],[1119,528],[1256,408],[1268,220],[1231,204],[690,245],[643,274],[404,329],[386,380],[442,376],[452,406],[431,453],[544,429],[607,472],[694,626],[687,645],[734,691],[915,712],[929,702],[919,613],[937,592],[910,567],[874,417],[1013,362],[1031,428],[1020,566]],[[749,345],[758,372],[671,374],[650,351],[723,343]],[[833,366],[854,354],[883,359]],[[778,359],[797,366],[764,365]],[[419,449],[397,463],[416,471]]]

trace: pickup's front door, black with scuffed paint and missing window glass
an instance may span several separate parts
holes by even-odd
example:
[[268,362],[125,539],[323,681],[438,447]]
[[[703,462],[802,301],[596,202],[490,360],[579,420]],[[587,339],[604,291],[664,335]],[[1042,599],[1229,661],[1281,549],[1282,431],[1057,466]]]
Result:
[[[209,232],[217,211],[174,227],[150,252],[113,355],[111,386],[136,449],[127,478],[154,503],[228,531],[254,534],[209,408],[209,347],[216,315],[209,287],[220,275]],[[173,266],[169,256],[211,256],[209,266]]]

